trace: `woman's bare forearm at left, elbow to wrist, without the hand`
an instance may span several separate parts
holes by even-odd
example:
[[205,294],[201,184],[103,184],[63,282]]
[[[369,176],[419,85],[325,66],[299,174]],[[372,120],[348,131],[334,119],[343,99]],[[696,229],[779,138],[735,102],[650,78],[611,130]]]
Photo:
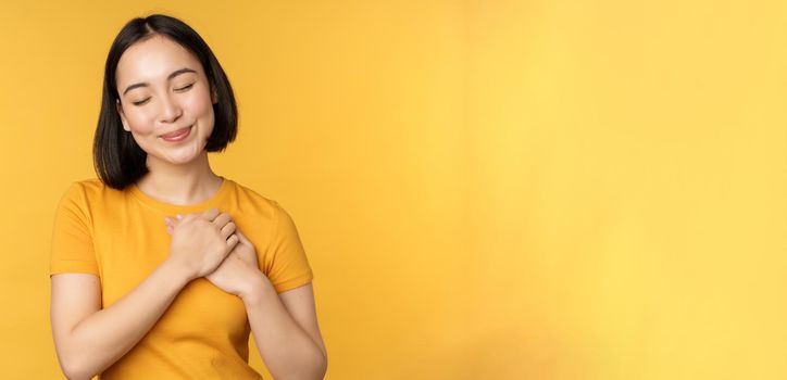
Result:
[[79,321],[63,347],[67,375],[89,379],[117,362],[150,331],[188,281],[178,266],[164,262],[116,303]]

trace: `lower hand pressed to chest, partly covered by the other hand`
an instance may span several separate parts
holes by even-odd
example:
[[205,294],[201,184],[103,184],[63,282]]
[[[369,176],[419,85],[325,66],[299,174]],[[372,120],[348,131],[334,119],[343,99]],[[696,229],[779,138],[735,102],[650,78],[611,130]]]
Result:
[[[172,233],[179,223],[182,221],[178,219],[166,218],[167,232]],[[237,228],[235,236],[238,243],[221,265],[204,277],[223,291],[242,299],[259,287],[259,280],[264,275],[258,266],[254,245]]]

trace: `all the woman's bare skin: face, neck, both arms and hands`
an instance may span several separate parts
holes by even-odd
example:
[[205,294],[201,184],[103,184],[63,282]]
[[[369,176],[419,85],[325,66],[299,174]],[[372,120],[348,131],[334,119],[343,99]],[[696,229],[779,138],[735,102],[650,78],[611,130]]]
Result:
[[[150,172],[137,182],[139,189],[172,204],[211,198],[222,179],[211,169],[204,147],[217,99],[199,61],[170,39],[153,36],[129,47],[115,74],[123,129],[148,153]],[[191,131],[183,141],[161,138],[184,127]],[[311,283],[276,293],[259,269],[253,244],[218,210],[167,217],[162,228],[172,236],[167,259],[109,307],[101,307],[97,276],[52,276],[52,333],[68,378],[89,379],[120,359],[177,293],[199,277],[242,299],[260,354],[274,378],[325,376],[327,352]]]

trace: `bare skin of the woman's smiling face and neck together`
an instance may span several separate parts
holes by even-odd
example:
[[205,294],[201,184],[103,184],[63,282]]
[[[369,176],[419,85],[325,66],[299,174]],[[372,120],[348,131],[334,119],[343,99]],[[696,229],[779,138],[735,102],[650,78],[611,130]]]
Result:
[[[189,72],[168,78],[180,69]],[[148,153],[150,173],[138,181],[139,189],[171,204],[209,199],[221,187],[204,150],[217,99],[197,58],[170,39],[153,36],[123,53],[115,77],[123,129]],[[134,87],[138,84],[143,86]],[[184,141],[161,138],[188,126],[192,129]]]

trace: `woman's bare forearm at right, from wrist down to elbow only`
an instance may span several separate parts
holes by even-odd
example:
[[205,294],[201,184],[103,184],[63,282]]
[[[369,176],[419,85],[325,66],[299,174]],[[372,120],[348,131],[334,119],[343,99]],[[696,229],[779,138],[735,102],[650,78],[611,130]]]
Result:
[[320,346],[290,317],[271,281],[243,296],[254,342],[276,380],[323,379],[327,359]]

